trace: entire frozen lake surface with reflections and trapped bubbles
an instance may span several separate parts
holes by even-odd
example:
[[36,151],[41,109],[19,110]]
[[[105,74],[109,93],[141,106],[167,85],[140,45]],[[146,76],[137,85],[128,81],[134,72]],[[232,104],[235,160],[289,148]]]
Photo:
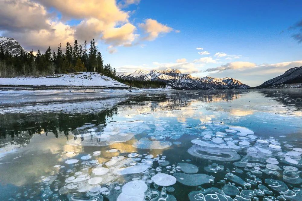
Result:
[[302,200],[301,136],[301,89],[1,91],[0,200]]

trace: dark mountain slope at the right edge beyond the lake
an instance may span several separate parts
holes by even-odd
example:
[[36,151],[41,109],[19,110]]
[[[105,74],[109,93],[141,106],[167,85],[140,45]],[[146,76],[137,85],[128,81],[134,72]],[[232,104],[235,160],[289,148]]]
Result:
[[284,74],[255,88],[302,88],[302,66],[288,69]]

